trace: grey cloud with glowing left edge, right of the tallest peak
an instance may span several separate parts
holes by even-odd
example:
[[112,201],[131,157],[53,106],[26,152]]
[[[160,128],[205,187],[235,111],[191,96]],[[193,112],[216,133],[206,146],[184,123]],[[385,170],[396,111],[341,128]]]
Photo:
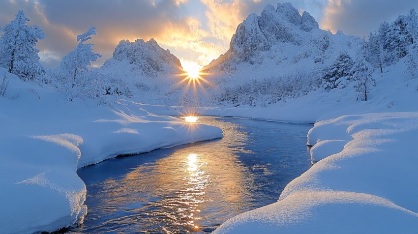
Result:
[[417,0],[328,0],[320,26],[365,36],[377,30],[381,22],[391,22],[414,7],[418,8]]

